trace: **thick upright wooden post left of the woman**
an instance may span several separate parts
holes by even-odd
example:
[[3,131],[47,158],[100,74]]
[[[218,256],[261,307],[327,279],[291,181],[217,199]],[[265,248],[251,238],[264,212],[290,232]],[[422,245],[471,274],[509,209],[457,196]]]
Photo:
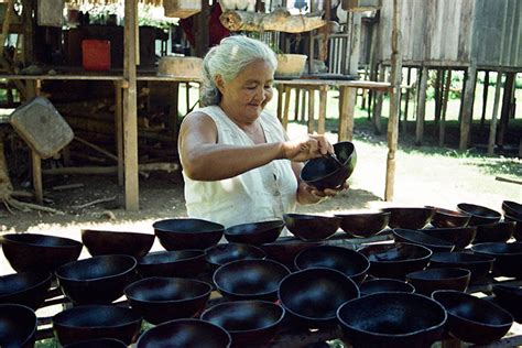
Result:
[[135,72],[135,0],[124,2],[123,28],[123,151],[124,151],[124,180],[126,180],[126,209],[139,209],[139,181],[138,181],[138,106],[137,106],[137,72]]

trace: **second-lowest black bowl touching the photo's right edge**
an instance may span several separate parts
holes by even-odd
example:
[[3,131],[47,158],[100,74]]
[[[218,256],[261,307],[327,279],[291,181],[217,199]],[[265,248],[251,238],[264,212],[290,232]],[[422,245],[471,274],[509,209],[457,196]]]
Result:
[[522,242],[489,242],[471,247],[475,253],[494,258],[496,275],[522,278]]

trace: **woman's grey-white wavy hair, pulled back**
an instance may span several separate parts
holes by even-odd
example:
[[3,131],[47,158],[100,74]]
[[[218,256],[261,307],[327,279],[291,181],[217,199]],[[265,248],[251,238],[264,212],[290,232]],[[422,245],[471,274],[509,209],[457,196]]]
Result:
[[260,59],[274,70],[278,67],[275,53],[261,41],[241,35],[221,40],[203,59],[202,106],[218,105],[221,101],[221,94],[216,86],[217,75],[221,75],[225,81],[230,81],[247,65]]

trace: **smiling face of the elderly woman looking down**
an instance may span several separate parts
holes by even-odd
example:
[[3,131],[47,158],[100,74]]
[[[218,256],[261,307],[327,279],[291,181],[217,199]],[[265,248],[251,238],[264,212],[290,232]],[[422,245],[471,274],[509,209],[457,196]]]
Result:
[[244,67],[236,78],[225,81],[217,76],[221,93],[220,107],[238,122],[255,121],[272,99],[274,69],[264,61],[255,61]]

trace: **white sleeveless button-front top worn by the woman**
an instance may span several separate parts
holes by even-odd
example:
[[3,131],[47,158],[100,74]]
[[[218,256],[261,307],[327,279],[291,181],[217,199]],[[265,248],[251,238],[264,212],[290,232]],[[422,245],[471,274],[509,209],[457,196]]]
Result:
[[[253,145],[253,141],[218,106],[198,109],[216,123],[218,143]],[[259,118],[268,143],[286,140],[280,121],[268,112]],[[275,160],[221,181],[194,181],[185,175],[187,214],[225,227],[282,219],[295,209],[297,180],[289,160]]]

